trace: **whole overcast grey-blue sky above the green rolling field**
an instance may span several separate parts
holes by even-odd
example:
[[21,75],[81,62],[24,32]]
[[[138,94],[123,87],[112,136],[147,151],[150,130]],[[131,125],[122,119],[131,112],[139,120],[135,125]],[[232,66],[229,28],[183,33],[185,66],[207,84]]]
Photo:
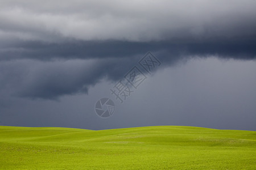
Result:
[[[0,125],[256,130],[255,9],[253,0],[0,0]],[[159,61],[150,73],[139,64],[147,52]],[[146,79],[127,84],[120,103],[110,90],[134,66]],[[108,118],[95,112],[102,97],[115,104]]]

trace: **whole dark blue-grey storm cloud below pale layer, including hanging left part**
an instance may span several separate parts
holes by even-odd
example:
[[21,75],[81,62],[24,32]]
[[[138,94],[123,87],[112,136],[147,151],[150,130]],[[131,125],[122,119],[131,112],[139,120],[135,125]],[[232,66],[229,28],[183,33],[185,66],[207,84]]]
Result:
[[[102,78],[121,78],[147,50],[170,66],[191,57],[255,59],[254,37],[236,40],[214,39],[205,42],[174,41],[68,41],[63,44],[39,41],[16,42],[0,52],[6,63],[4,83],[13,95],[31,99],[58,99],[63,95],[88,92]],[[18,59],[18,60],[17,60]],[[22,63],[22,65],[20,65]],[[18,71],[14,71],[18,70]],[[9,86],[9,88],[11,88]]]

